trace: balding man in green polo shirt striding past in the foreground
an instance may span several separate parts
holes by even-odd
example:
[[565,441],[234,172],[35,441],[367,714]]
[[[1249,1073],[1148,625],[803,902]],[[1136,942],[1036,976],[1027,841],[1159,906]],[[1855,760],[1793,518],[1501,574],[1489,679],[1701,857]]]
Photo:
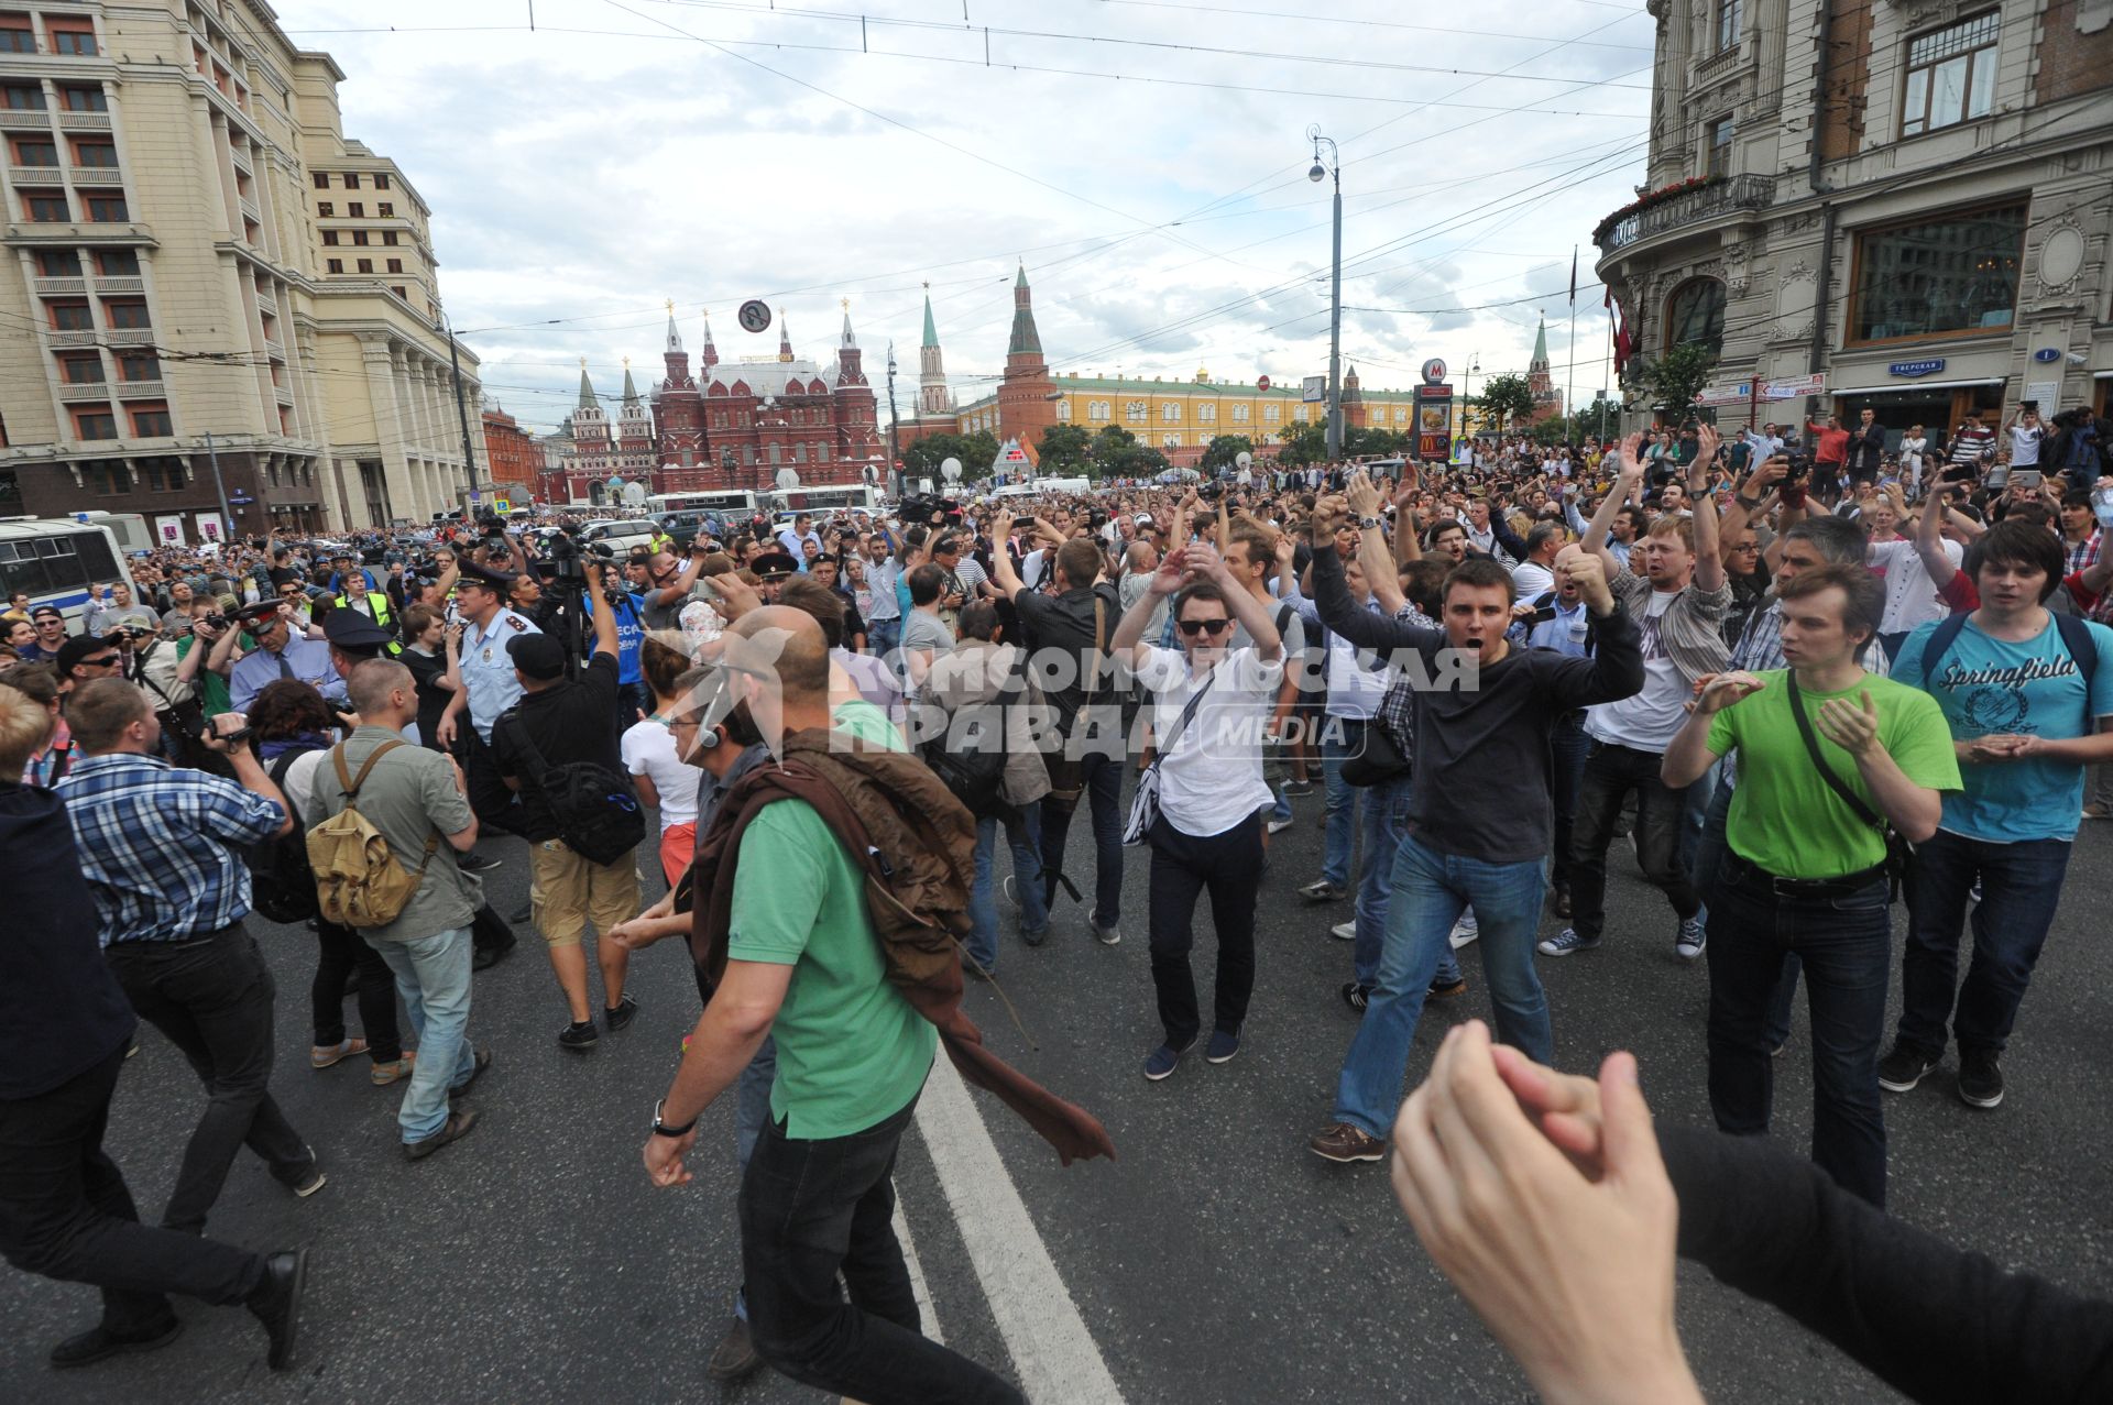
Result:
[[[828,642],[805,611],[742,615],[723,668],[773,750],[788,733],[858,729],[856,716],[830,714]],[[938,1033],[887,980],[860,868],[794,799],[765,805],[735,849],[727,970],[655,1107],[644,1147],[655,1185],[689,1179],[697,1118],[765,1037],[778,1075],[740,1196],[756,1352],[801,1384],[862,1401],[1021,1401],[919,1333],[890,1177]]]

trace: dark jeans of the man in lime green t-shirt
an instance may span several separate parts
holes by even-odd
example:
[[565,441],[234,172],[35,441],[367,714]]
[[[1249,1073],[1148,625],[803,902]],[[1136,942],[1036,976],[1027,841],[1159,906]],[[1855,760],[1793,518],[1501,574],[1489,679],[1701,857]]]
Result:
[[1878,1042],[1893,921],[1887,881],[1836,896],[1771,889],[1766,873],[1724,860],[1709,894],[1709,1111],[1720,1132],[1769,1130],[1775,1061],[1769,1004],[1783,953],[1805,963],[1813,1014],[1813,1160],[1853,1196],[1885,1209]]

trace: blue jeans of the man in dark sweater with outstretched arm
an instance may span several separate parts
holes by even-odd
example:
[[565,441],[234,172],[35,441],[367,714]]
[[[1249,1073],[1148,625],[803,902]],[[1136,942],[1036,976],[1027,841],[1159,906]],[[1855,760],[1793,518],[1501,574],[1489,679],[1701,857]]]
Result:
[[1473,904],[1481,921],[1481,974],[1496,1006],[1496,1037],[1536,1063],[1553,1063],[1549,997],[1534,974],[1534,925],[1547,889],[1549,860],[1488,864],[1441,854],[1414,835],[1395,854],[1395,894],[1386,913],[1386,947],[1378,985],[1335,1084],[1335,1120],[1386,1137],[1401,1107],[1401,1080],[1424,993],[1460,913]]

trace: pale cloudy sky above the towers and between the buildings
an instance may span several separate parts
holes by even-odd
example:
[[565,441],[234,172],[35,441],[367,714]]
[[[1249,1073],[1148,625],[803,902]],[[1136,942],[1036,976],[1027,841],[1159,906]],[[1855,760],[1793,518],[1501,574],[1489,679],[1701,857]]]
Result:
[[[864,11],[860,8],[864,6]],[[1642,2],[281,0],[347,70],[347,135],[433,207],[442,289],[524,423],[691,353],[803,355],[841,298],[915,401],[923,283],[964,399],[1004,368],[1021,260],[1052,370],[1278,382],[1327,370],[1342,150],[1342,349],[1367,387],[1426,357],[1606,382],[1591,228],[1644,173]],[[530,32],[530,13],[535,30]],[[860,13],[866,21],[860,23]],[[989,53],[989,65],[985,63]],[[1479,385],[1479,380],[1477,380]]]

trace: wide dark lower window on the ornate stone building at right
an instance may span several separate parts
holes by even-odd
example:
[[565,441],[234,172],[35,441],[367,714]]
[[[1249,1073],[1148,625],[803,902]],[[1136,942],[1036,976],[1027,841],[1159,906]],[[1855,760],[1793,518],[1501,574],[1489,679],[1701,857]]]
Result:
[[1849,340],[2009,327],[2024,258],[2024,205],[1864,230],[1855,245]]

